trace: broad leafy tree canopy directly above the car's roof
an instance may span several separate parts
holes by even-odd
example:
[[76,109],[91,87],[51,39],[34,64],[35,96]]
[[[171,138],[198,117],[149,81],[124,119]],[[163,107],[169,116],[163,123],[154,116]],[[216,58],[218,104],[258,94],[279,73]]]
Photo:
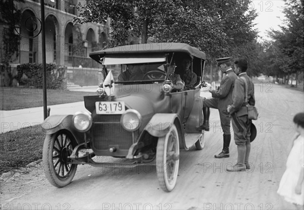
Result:
[[80,16],[74,22],[101,23],[110,18],[107,47],[128,44],[130,37],[140,37],[141,43],[184,42],[205,51],[214,63],[218,57],[242,55],[239,47],[254,40],[256,13],[249,11],[249,4],[249,0],[96,0],[77,6]]

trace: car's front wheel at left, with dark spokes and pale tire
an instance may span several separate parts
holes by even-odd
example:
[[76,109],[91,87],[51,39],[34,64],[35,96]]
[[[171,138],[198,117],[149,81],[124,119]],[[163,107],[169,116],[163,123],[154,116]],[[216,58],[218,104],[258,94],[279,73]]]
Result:
[[76,173],[77,165],[71,164],[68,159],[75,143],[73,136],[65,130],[46,135],[42,157],[44,172],[55,187],[68,185]]

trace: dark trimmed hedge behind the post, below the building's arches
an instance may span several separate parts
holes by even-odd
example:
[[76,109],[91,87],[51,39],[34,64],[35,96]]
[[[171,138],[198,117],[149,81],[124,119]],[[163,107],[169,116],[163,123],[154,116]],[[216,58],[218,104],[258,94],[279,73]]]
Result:
[[[63,84],[66,67],[55,64],[46,64],[47,88],[60,88]],[[17,66],[17,75],[15,78],[21,85],[34,86],[42,88],[43,75],[42,64],[21,64]],[[27,78],[24,79],[25,75]]]

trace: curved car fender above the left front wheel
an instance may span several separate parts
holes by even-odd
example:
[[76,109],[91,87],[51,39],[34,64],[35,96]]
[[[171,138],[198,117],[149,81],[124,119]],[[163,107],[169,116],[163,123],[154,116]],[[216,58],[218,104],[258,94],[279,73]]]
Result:
[[85,134],[75,129],[72,124],[73,115],[51,115],[41,124],[45,134],[53,134],[60,130],[68,130],[78,143],[84,141]]

